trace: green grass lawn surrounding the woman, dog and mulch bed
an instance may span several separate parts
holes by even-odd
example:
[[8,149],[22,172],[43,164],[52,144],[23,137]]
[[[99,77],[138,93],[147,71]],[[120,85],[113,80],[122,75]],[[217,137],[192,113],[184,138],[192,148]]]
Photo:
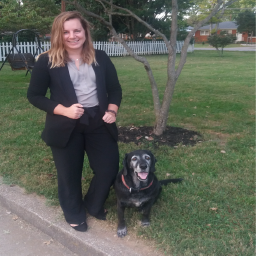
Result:
[[[179,56],[178,56],[179,59]],[[149,56],[163,97],[167,56]],[[152,95],[143,66],[130,57],[112,58],[123,88],[118,126],[153,126]],[[159,179],[182,177],[163,188],[152,208],[151,226],[126,211],[128,232],[155,242],[166,255],[255,255],[255,59],[252,52],[196,51],[177,82],[168,125],[200,132],[196,146],[155,147],[119,143],[120,168],[126,152],[151,150]],[[0,175],[58,204],[50,149],[40,138],[45,113],[26,99],[30,76],[0,72]],[[92,177],[85,162],[84,193]],[[115,195],[106,207],[116,225]]]

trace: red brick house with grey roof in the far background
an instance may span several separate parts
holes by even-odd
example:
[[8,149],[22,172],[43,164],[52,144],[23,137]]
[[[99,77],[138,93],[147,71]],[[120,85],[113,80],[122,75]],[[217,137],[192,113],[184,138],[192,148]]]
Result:
[[[201,28],[199,28],[195,33],[195,42],[196,43],[202,43],[207,41],[207,37],[211,34],[211,31],[216,29],[216,24],[206,25]],[[236,36],[237,42],[246,42],[246,43],[255,43],[256,37],[251,37],[251,35],[248,35],[247,32],[244,33],[238,33],[237,32],[237,25],[233,21],[224,21],[220,22],[218,24],[218,31],[219,34],[221,31],[226,31],[229,34],[233,34]]]

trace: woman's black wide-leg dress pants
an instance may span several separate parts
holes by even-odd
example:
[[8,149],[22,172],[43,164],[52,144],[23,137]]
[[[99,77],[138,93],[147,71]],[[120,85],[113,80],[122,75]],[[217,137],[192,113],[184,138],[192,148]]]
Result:
[[[97,111],[89,125],[77,121],[66,147],[51,147],[58,174],[58,195],[65,219],[70,224],[85,221],[85,208],[90,215],[105,219],[104,203],[118,168],[117,142],[109,133]],[[86,152],[94,177],[87,194],[82,196],[81,177]]]

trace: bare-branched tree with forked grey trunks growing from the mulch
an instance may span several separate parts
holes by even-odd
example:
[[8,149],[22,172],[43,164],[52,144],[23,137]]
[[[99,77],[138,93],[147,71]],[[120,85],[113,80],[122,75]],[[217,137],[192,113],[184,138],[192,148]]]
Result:
[[[189,42],[198,28],[200,28],[203,24],[208,22],[213,16],[216,15],[216,13],[223,10],[223,8],[229,6],[236,0],[217,0],[217,3],[213,5],[213,9],[211,13],[204,19],[199,21],[193,28],[192,31],[190,31],[184,41],[184,45],[182,47],[181,55],[180,55],[180,61],[177,65],[177,68],[175,67],[176,64],[176,42],[177,42],[177,32],[179,30],[178,28],[178,3],[184,3],[189,1],[181,1],[181,0],[172,0],[172,6],[171,6],[171,27],[169,31],[169,39],[163,34],[161,31],[155,29],[152,25],[144,21],[141,17],[137,16],[134,12],[132,12],[128,8],[123,8],[121,6],[117,6],[114,4],[111,4],[110,1],[107,0],[95,0],[95,2],[99,2],[102,6],[104,6],[105,13],[107,15],[117,15],[117,16],[129,16],[136,19],[138,22],[143,24],[147,30],[155,33],[157,36],[162,37],[163,41],[166,44],[166,47],[168,49],[168,62],[167,62],[167,82],[164,92],[164,97],[162,103],[160,102],[159,93],[158,93],[158,87],[157,83],[155,81],[155,78],[153,76],[153,72],[151,70],[150,64],[148,63],[147,59],[142,56],[136,55],[132,49],[126,44],[126,42],[120,38],[117,34],[117,31],[113,27],[113,25],[108,21],[108,19],[104,19],[104,17],[101,17],[95,13],[92,13],[88,11],[86,8],[82,7],[80,4],[80,1],[65,1],[67,4],[73,5],[78,11],[82,12],[87,17],[93,17],[94,19],[99,20],[102,24],[104,24],[108,29],[110,30],[110,33],[118,40],[124,48],[127,50],[127,52],[137,61],[141,62],[144,65],[144,68],[147,72],[150,84],[151,84],[151,90],[153,95],[153,103],[154,103],[154,112],[155,112],[155,126],[154,126],[154,134],[161,135],[167,124],[167,118],[169,113],[169,108],[172,100],[172,96],[174,93],[174,88],[176,85],[176,82],[179,78],[179,75],[185,65],[186,58],[187,58],[187,49],[189,46]],[[109,17],[109,16],[108,16]]]

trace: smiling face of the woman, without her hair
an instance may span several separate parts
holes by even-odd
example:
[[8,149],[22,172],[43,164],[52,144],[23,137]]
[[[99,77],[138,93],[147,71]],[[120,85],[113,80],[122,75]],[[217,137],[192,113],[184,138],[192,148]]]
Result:
[[67,20],[63,24],[63,41],[67,52],[81,53],[86,40],[85,31],[79,19]]

